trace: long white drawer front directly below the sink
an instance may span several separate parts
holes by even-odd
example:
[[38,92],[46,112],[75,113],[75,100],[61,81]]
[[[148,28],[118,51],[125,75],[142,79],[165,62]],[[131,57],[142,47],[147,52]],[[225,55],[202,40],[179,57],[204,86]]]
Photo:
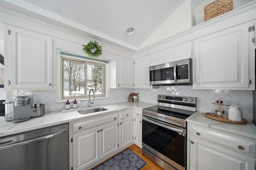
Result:
[[118,114],[114,114],[114,115],[108,115],[108,116],[99,117],[96,119],[90,119],[90,120],[74,123],[72,125],[72,132],[77,133],[87,128],[91,128],[103,123],[108,123],[108,122],[117,121],[117,120],[118,120]]

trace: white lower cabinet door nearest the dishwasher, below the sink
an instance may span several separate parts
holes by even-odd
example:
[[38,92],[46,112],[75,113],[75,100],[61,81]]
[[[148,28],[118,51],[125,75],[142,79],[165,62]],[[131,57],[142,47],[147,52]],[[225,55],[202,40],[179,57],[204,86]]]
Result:
[[73,168],[83,170],[99,160],[99,132],[93,128],[73,135]]

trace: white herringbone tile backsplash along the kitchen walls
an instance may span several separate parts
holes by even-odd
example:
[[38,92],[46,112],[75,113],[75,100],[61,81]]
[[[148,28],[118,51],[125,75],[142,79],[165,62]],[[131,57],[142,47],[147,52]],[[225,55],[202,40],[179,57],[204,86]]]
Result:
[[[240,107],[243,118],[253,119],[252,90],[194,90],[192,86],[159,86],[154,89],[110,89],[110,98],[95,99],[92,106],[128,101],[130,93],[139,93],[138,101],[157,104],[157,95],[188,96],[197,98],[197,111],[212,110],[212,101]],[[1,91],[0,91],[1,93]],[[65,102],[55,103],[55,90],[19,90],[16,94],[33,94],[33,103],[46,105],[46,112],[65,109]],[[88,100],[78,101],[78,107],[88,107]],[[215,105],[213,106],[215,110]],[[224,109],[224,108],[223,108]],[[228,108],[227,108],[228,109]]]

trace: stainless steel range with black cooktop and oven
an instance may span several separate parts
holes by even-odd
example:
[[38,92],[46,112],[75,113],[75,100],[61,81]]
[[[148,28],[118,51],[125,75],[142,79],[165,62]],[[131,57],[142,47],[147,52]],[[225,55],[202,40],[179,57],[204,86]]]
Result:
[[157,106],[142,109],[142,153],[165,170],[186,170],[186,118],[196,111],[196,98],[157,100]]

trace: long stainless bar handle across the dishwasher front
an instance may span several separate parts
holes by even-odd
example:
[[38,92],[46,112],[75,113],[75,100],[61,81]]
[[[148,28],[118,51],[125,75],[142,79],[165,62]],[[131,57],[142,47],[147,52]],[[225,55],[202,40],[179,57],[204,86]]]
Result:
[[62,131],[58,131],[56,133],[52,133],[50,135],[46,135],[46,136],[43,136],[43,137],[38,137],[36,139],[31,139],[31,140],[28,140],[28,141],[23,141],[23,142],[19,142],[19,143],[14,143],[14,144],[11,144],[11,145],[6,145],[6,146],[3,146],[3,147],[0,147],[0,150],[4,150],[4,149],[9,149],[9,148],[12,148],[12,147],[19,147],[19,146],[22,146],[22,145],[27,145],[27,144],[30,144],[30,143],[33,143],[33,142],[37,142],[37,141],[41,141],[41,140],[44,140],[44,139],[48,139],[50,137],[54,137],[54,136],[57,136],[57,135],[60,135],[64,132],[66,132],[67,129],[64,129]]

